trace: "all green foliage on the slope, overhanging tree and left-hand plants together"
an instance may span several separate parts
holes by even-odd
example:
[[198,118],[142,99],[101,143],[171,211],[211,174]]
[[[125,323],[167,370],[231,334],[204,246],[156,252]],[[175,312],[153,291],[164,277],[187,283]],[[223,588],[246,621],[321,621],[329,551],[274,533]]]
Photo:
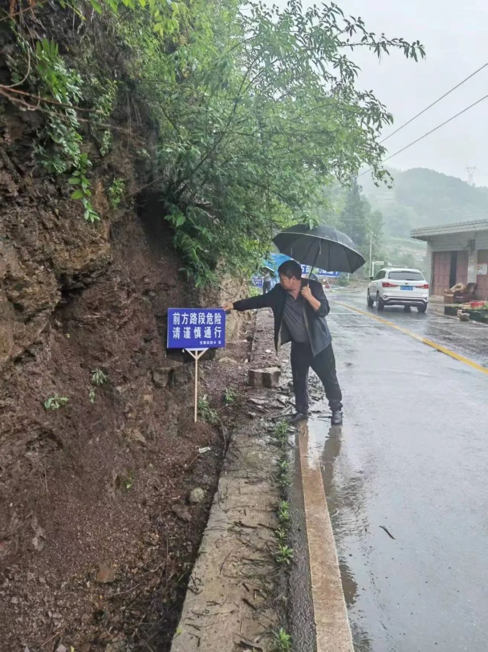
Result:
[[336,5],[305,10],[297,0],[284,9],[238,0],[15,8],[1,28],[15,35],[3,98],[39,112],[38,161],[72,185],[96,228],[103,215],[92,203],[87,141],[103,158],[122,106],[136,120],[149,115],[153,146],[140,149],[154,153],[154,173],[141,186],[160,196],[197,286],[216,280],[218,268],[248,273],[273,228],[315,218],[331,180],[347,182],[362,165],[384,178],[377,136],[392,116],[356,88],[348,53],[423,56],[418,41],[377,37]]

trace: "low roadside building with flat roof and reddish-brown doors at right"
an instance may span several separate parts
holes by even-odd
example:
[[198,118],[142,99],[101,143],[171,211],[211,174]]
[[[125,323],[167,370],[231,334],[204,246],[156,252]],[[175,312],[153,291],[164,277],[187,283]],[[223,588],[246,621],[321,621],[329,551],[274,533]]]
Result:
[[410,235],[427,243],[425,271],[433,295],[456,283],[476,283],[477,298],[488,300],[488,220],[425,226]]

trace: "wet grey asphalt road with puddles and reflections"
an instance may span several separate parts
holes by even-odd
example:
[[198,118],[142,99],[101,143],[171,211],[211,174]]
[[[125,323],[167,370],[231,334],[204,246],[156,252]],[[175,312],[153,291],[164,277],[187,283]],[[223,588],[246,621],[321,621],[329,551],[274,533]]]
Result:
[[[363,294],[330,296],[344,425],[309,419],[355,649],[485,652],[488,376],[337,304]],[[488,327],[381,316],[488,366]]]

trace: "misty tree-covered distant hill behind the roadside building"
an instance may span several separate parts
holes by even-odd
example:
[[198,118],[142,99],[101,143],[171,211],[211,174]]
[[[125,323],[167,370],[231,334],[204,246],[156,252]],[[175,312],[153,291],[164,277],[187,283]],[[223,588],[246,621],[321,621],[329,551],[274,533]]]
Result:
[[484,186],[470,186],[427,168],[390,172],[394,177],[391,190],[377,188],[369,179],[363,184],[368,200],[382,212],[389,235],[408,237],[411,228],[488,217],[488,188]]

